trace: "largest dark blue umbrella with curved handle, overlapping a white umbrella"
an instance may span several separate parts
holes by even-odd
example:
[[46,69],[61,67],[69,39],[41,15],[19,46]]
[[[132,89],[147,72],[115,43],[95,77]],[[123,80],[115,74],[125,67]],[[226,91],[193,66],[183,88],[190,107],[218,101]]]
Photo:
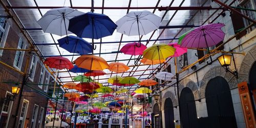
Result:
[[[70,19],[69,31],[81,38],[99,39],[112,35],[116,27],[109,16],[87,12]],[[92,45],[94,48],[94,44]]]

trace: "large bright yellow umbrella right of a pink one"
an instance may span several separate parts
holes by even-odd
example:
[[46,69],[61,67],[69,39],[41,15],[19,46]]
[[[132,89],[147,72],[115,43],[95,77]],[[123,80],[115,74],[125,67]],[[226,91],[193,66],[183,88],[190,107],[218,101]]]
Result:
[[143,51],[143,58],[150,60],[166,59],[167,57],[174,55],[175,50],[175,48],[166,44],[155,44]]

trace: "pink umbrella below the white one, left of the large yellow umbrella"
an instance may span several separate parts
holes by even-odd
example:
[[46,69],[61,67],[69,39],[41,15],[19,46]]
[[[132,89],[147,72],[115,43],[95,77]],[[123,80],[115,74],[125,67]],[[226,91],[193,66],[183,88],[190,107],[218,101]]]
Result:
[[139,42],[132,42],[129,44],[124,45],[120,52],[128,55],[142,55],[143,51],[146,49],[146,46],[141,44],[141,47],[136,47],[140,45]]

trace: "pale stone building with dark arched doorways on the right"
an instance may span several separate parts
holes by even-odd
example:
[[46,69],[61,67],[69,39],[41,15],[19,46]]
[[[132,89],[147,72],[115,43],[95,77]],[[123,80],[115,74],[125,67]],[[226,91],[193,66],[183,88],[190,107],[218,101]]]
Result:
[[[212,7],[216,7],[216,4],[211,1],[201,4],[209,4]],[[255,1],[248,0],[236,1],[234,3],[228,1],[226,4],[239,6],[241,8],[255,9],[256,3]],[[240,11],[244,15],[255,20],[255,11],[248,11],[246,9],[241,9]],[[190,13],[194,14],[195,12],[191,11]],[[203,17],[203,15],[208,13],[212,14],[210,10],[198,12],[193,18],[193,23],[188,22],[189,25],[202,25],[201,21],[208,18],[206,16]],[[152,125],[154,127],[176,127],[177,125],[182,125],[183,128],[221,126],[249,127],[244,116],[244,111],[246,110],[243,110],[243,103],[241,102],[238,88],[238,84],[243,81],[247,83],[249,89],[250,103],[252,104],[252,113],[250,114],[255,117],[255,25],[248,28],[245,32],[238,33],[239,30],[249,26],[251,23],[232,11],[221,11],[221,13],[218,14],[219,16],[215,15],[210,17],[208,23],[225,24],[222,28],[224,33],[226,33],[223,42],[226,42],[227,40],[229,41],[227,41],[220,50],[245,53],[245,55],[233,54],[238,71],[238,78],[232,73],[227,72],[224,67],[221,67],[217,58],[221,56],[222,53],[217,53],[212,56],[213,62],[211,65],[207,65],[207,61],[210,62],[209,58],[196,63],[193,68],[189,68],[188,70],[179,73],[179,92],[177,92],[176,79],[166,83],[164,87],[157,90],[157,92],[161,94],[161,100],[155,101],[153,99]],[[200,20],[202,18],[204,20]],[[183,31],[188,30],[190,29],[184,29]],[[173,36],[170,36],[169,38],[172,37]],[[223,42],[220,42],[220,44]],[[195,56],[195,54],[197,56]],[[188,49],[186,54],[177,57],[178,72],[204,55],[204,51]],[[169,69],[162,69],[162,71],[168,71],[175,74],[173,59],[174,58],[171,58],[168,61],[168,65],[164,66],[166,68],[169,67]],[[231,65],[228,68],[231,72],[235,71],[233,61],[231,61]],[[178,103],[178,96],[180,103]],[[226,126],[225,122],[229,125]],[[253,126],[256,127],[255,124],[252,124],[252,127]]]

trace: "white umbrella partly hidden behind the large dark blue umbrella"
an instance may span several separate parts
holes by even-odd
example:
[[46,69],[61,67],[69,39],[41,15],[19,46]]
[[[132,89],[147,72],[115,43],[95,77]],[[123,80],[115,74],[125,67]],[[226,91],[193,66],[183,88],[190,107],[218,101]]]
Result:
[[59,36],[68,35],[69,19],[84,14],[69,7],[50,9],[46,12],[37,23],[46,33],[52,33]]

